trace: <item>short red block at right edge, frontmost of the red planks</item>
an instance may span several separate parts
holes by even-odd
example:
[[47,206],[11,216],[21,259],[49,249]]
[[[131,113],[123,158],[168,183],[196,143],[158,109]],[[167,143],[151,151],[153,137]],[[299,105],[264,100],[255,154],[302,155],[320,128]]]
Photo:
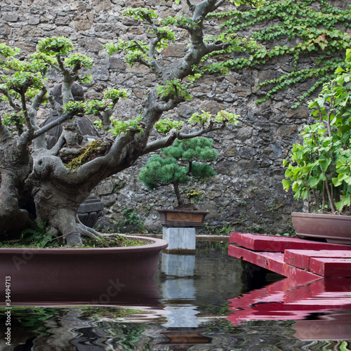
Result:
[[351,277],[351,259],[310,258],[310,271],[322,277]]

